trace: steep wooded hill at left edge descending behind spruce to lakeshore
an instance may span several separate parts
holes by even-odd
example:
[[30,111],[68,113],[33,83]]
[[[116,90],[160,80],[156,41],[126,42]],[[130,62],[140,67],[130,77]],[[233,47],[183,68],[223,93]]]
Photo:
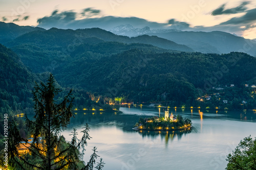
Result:
[[[24,112],[33,113],[32,91],[35,82],[45,81],[48,76],[49,72],[32,73],[14,52],[0,44],[0,116],[5,113],[10,116]],[[62,91],[56,100],[60,101],[60,96],[71,88],[63,88],[59,84],[58,88]],[[84,89],[73,88],[73,95],[74,107],[112,110],[112,107],[105,105],[103,98],[99,101],[94,94]]]

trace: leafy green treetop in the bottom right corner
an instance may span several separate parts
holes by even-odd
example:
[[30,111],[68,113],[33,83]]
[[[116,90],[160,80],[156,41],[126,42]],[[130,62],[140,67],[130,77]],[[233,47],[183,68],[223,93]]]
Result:
[[256,138],[250,136],[240,141],[237,148],[228,154],[227,170],[252,170],[256,169]]

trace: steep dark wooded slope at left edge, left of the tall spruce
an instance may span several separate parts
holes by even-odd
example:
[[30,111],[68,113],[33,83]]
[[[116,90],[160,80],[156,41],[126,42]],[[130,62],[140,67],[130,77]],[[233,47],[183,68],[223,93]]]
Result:
[[32,108],[31,89],[35,77],[11,50],[0,44],[1,113]]

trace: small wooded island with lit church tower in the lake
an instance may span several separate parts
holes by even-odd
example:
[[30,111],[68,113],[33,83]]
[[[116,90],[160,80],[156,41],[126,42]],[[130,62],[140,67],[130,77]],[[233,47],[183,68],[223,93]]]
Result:
[[181,115],[173,115],[165,111],[164,117],[151,117],[140,118],[139,122],[135,124],[134,130],[153,130],[153,131],[173,131],[173,130],[185,130],[190,129],[192,122],[189,118],[183,118]]

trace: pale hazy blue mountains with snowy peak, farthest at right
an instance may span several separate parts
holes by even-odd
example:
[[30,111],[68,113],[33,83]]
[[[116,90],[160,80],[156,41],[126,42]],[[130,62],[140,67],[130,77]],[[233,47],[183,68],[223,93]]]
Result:
[[175,29],[155,29],[149,27],[142,29],[131,25],[120,25],[110,30],[117,35],[134,37],[138,35],[155,35],[161,38],[184,44],[196,52],[201,53],[230,53],[244,52],[256,56],[256,42],[221,31],[194,32]]

